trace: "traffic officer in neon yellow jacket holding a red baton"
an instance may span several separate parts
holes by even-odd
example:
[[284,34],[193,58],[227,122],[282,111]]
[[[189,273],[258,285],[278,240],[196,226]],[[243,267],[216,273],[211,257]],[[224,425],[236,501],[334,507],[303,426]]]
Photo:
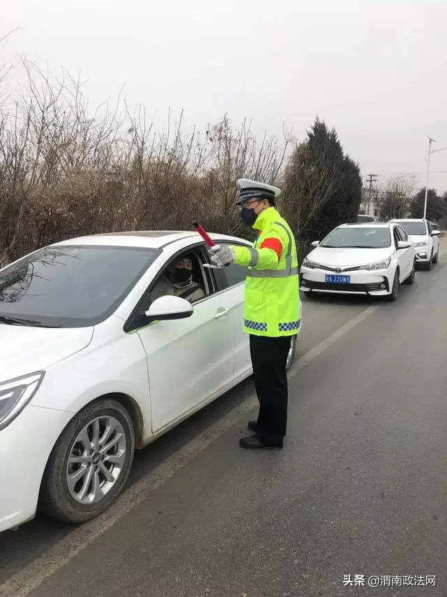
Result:
[[244,297],[244,331],[250,335],[251,363],[259,400],[257,421],[249,421],[248,449],[281,448],[287,423],[286,363],[291,336],[300,331],[298,257],[295,239],[275,209],[279,188],[242,178],[237,206],[244,224],[258,231],[253,248],[214,246],[219,267],[248,266]]

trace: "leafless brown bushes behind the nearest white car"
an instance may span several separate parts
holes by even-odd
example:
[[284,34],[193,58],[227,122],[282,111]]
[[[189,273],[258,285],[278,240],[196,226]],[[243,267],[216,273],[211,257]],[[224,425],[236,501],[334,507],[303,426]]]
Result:
[[50,80],[20,59],[26,84],[0,98],[0,266],[54,241],[120,230],[189,230],[199,219],[241,232],[237,178],[274,183],[291,134],[258,141],[227,117],[204,135],[168,117],[164,132],[144,108],[89,111],[82,82]]

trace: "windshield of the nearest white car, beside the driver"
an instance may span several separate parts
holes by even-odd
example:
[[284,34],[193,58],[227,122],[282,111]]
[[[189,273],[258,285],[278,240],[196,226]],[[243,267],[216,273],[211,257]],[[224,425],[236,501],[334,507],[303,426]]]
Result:
[[52,246],[31,253],[0,271],[0,324],[100,323],[159,254],[117,246]]

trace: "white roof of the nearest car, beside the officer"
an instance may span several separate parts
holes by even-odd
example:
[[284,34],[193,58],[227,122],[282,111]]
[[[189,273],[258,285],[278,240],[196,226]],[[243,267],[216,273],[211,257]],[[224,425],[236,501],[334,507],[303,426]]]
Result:
[[[230,237],[226,234],[210,233],[214,240],[243,241],[237,237]],[[191,239],[191,244],[201,241],[202,237],[198,232],[186,232],[178,230],[134,230],[129,232],[105,232],[104,234],[91,234],[85,237],[76,237],[54,243],[52,246],[128,246],[142,248],[163,248],[168,244]]]

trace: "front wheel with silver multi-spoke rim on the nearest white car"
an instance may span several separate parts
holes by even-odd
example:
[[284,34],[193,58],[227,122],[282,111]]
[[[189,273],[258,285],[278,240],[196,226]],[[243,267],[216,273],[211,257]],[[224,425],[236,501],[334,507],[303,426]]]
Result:
[[53,518],[80,523],[106,510],[131,470],[135,430],[116,400],[82,409],[57,440],[43,475],[39,507]]

